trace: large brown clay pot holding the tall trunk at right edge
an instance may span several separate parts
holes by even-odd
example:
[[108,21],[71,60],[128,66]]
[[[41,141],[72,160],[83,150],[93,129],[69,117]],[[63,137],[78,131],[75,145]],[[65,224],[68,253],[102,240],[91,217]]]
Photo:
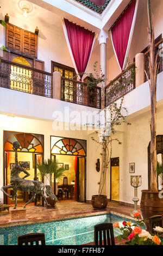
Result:
[[142,190],[141,192],[140,210],[142,217],[149,218],[153,215],[162,215],[163,217],[163,200],[159,198],[159,191]]

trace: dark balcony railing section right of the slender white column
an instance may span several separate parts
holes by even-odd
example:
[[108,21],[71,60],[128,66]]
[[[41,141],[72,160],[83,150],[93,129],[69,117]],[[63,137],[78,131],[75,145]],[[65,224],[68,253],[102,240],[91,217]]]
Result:
[[135,89],[135,63],[105,87],[105,107]]

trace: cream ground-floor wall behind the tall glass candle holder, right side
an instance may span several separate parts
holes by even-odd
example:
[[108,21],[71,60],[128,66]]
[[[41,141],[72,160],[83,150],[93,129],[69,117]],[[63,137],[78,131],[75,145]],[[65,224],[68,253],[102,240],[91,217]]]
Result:
[[[163,135],[163,105],[158,107],[156,121],[156,135]],[[120,201],[133,203],[134,188],[130,185],[130,175],[142,175],[142,186],[138,188],[138,197],[141,199],[141,190],[148,189],[148,154],[147,148],[150,135],[150,110],[133,117],[128,121],[131,125],[124,126],[124,132],[118,132],[115,137],[122,145],[114,142],[112,157],[120,157]],[[135,174],[129,173],[129,163],[135,163]],[[110,179],[110,170],[108,171]],[[108,182],[108,198],[110,198],[110,182]],[[140,202],[139,202],[140,204]]]

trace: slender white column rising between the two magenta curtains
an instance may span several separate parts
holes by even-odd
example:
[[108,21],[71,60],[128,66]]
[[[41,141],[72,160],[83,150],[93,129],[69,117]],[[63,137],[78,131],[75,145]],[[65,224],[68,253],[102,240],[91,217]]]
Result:
[[104,75],[105,81],[101,84],[101,107],[104,108],[104,99],[105,99],[105,86],[106,86],[106,39],[108,38],[108,32],[101,30],[98,36],[99,45],[100,45],[100,66],[101,72]]

